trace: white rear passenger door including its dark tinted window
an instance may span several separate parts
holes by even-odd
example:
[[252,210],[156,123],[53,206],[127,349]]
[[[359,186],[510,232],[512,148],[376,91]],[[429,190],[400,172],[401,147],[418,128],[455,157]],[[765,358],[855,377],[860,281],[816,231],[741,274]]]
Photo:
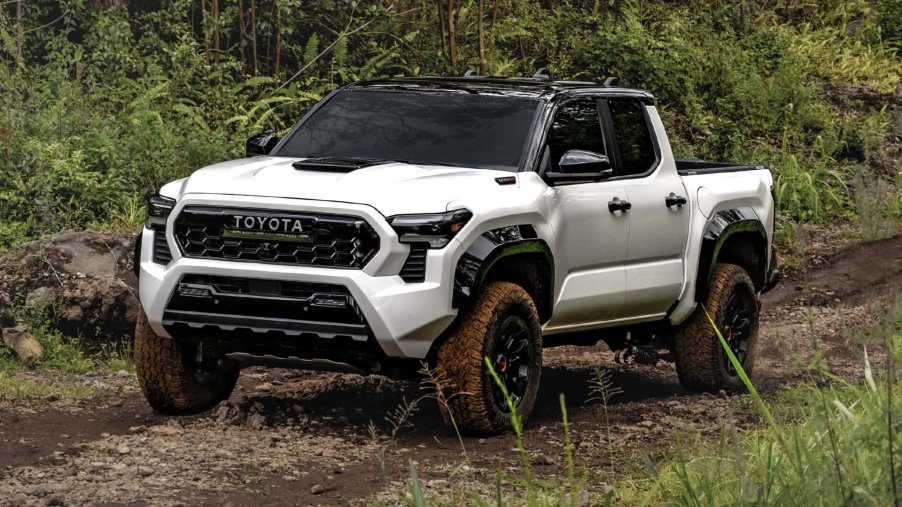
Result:
[[683,287],[690,208],[688,201],[674,203],[688,195],[654,108],[638,99],[609,98],[602,110],[613,141],[613,179],[632,204],[625,266],[629,313],[663,315]]

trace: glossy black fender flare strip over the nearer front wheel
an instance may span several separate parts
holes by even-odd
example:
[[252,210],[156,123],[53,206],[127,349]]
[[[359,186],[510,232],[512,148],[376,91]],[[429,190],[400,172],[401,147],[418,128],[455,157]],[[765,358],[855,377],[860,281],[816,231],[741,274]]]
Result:
[[[552,291],[554,287],[554,256],[545,240],[538,237],[531,225],[511,225],[492,229],[482,233],[467,248],[457,261],[454,271],[454,293],[452,306],[464,308],[471,304],[486,281],[492,267],[502,259],[524,254],[538,254],[548,263],[550,277],[539,280],[540,289]],[[536,306],[540,306],[536,301]],[[550,317],[551,295],[548,294],[546,306],[539,308],[540,315]]]

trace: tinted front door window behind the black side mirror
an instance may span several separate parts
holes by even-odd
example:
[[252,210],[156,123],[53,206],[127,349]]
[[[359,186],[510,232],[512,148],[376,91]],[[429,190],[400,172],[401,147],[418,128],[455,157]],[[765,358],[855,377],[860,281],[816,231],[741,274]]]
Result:
[[567,150],[587,150],[607,154],[595,100],[568,102],[557,110],[551,124],[551,132],[548,134],[548,148],[551,164],[555,169]]

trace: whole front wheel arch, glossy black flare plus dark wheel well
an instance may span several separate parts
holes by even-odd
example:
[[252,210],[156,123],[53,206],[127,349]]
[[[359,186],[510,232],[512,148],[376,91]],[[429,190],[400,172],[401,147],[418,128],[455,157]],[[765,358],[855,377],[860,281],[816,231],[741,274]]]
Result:
[[512,225],[486,231],[464,252],[454,272],[454,308],[472,305],[479,291],[492,281],[516,283],[532,297],[539,320],[551,318],[554,256],[531,225]]

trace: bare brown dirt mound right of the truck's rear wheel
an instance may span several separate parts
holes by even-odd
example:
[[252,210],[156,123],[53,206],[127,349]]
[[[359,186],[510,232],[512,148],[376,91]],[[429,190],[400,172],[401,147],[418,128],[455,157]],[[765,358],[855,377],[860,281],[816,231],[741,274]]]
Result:
[[803,270],[764,297],[766,306],[859,305],[882,301],[902,289],[902,236],[859,243]]

